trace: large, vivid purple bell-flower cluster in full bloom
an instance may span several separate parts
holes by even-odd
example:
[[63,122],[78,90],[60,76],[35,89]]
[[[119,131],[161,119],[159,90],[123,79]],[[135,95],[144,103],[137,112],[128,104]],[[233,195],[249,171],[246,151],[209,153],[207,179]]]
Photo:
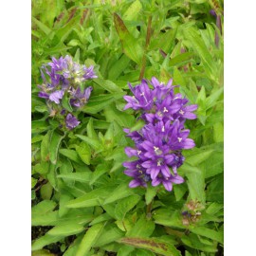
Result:
[[196,119],[192,112],[197,105],[189,102],[180,93],[174,94],[173,80],[167,84],[152,78],[151,82],[142,80],[135,87],[129,84],[134,96],[124,96],[128,103],[124,109],[132,108],[140,111],[140,119],[145,121],[142,129],[130,132],[136,148],[127,147],[125,153],[136,160],[124,162],[124,174],[132,176],[131,188],[163,184],[167,191],[173,190],[173,183],[179,184],[184,179],[177,174],[184,162],[183,149],[192,149],[194,142],[189,138],[190,130],[185,129],[186,119]]

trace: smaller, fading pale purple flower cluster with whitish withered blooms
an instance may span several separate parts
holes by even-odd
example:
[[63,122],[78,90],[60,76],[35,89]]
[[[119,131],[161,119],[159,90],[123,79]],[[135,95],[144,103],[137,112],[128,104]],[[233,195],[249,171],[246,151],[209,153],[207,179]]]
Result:
[[64,102],[76,111],[88,101],[92,87],[84,88],[83,82],[97,78],[93,68],[93,65],[86,67],[84,64],[78,64],[66,55],[59,59],[53,57],[52,62],[41,69],[43,84],[38,85],[41,89],[38,96],[46,99],[50,116],[63,120],[68,130],[74,129],[80,121],[68,113]]

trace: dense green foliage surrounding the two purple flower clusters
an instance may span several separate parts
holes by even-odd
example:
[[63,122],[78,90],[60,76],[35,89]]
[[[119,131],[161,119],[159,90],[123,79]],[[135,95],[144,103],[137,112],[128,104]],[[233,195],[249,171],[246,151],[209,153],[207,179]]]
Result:
[[[223,35],[210,15],[214,9],[223,23],[222,6],[32,0],[33,255],[222,255]],[[99,78],[90,82],[81,125],[63,133],[37,84],[41,65],[66,54],[94,64]],[[186,181],[173,192],[130,189],[123,174],[124,148],[133,146],[123,128],[138,129],[134,112],[123,111],[127,82],[153,76],[174,78],[198,104],[198,119],[186,123],[196,147],[184,152]]]

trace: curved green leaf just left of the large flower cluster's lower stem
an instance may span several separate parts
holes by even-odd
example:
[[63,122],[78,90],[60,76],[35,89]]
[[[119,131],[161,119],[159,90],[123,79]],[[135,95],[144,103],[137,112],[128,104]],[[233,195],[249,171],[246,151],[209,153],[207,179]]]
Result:
[[119,220],[123,219],[125,217],[125,214],[132,210],[140,200],[140,196],[137,194],[130,195],[126,198],[123,198],[119,201],[119,203],[116,206],[115,214]]

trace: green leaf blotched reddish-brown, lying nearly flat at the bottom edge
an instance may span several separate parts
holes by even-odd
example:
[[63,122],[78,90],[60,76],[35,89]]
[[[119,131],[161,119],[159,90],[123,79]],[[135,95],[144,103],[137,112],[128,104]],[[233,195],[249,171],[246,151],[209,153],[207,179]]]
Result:
[[119,243],[138,248],[145,248],[164,256],[181,256],[180,252],[171,244],[167,244],[157,238],[124,237]]

